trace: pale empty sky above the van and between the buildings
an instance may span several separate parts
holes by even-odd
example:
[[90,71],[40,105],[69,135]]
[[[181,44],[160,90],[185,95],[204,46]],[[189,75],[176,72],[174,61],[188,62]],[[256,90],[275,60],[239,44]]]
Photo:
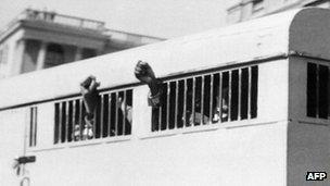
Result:
[[227,0],[1,0],[0,28],[25,8],[99,20],[107,28],[178,37],[224,26]]

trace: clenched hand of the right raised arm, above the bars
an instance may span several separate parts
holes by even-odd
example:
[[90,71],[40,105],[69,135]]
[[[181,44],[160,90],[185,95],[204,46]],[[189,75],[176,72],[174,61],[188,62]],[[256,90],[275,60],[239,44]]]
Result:
[[143,61],[139,61],[137,63],[135,69],[135,75],[140,82],[148,85],[150,85],[152,82],[156,79],[150,65]]

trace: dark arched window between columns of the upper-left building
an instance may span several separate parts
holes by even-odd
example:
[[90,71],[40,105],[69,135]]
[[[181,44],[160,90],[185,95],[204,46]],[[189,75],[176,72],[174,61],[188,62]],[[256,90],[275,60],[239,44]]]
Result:
[[61,45],[51,44],[47,47],[45,69],[53,67],[64,63],[64,50]]

